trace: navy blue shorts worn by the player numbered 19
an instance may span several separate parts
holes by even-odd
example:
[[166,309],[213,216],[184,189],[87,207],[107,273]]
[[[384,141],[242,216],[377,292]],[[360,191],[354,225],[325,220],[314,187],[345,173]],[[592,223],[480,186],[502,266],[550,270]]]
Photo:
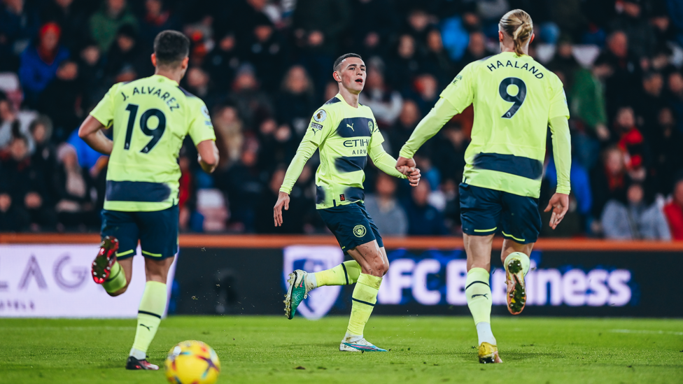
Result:
[[138,240],[142,255],[150,259],[167,259],[178,253],[178,206],[152,212],[102,210],[101,236],[118,239],[118,259],[135,255]]

